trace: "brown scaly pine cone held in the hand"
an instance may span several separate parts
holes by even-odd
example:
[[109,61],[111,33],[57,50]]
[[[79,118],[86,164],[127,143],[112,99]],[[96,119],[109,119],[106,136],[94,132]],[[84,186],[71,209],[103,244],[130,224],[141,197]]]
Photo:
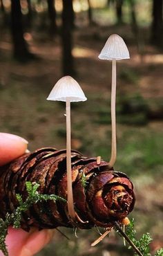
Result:
[[[88,229],[93,226],[112,227],[133,210],[133,184],[126,174],[109,170],[108,163],[97,158],[86,158],[72,151],[72,179],[75,210],[82,222],[75,226]],[[16,194],[26,199],[26,181],[39,183],[39,193],[56,194],[67,199],[66,149],[42,148],[17,158],[0,170],[0,217],[13,212],[19,205]],[[73,228],[67,203],[47,201],[32,205],[23,214],[21,227],[32,226]]]

